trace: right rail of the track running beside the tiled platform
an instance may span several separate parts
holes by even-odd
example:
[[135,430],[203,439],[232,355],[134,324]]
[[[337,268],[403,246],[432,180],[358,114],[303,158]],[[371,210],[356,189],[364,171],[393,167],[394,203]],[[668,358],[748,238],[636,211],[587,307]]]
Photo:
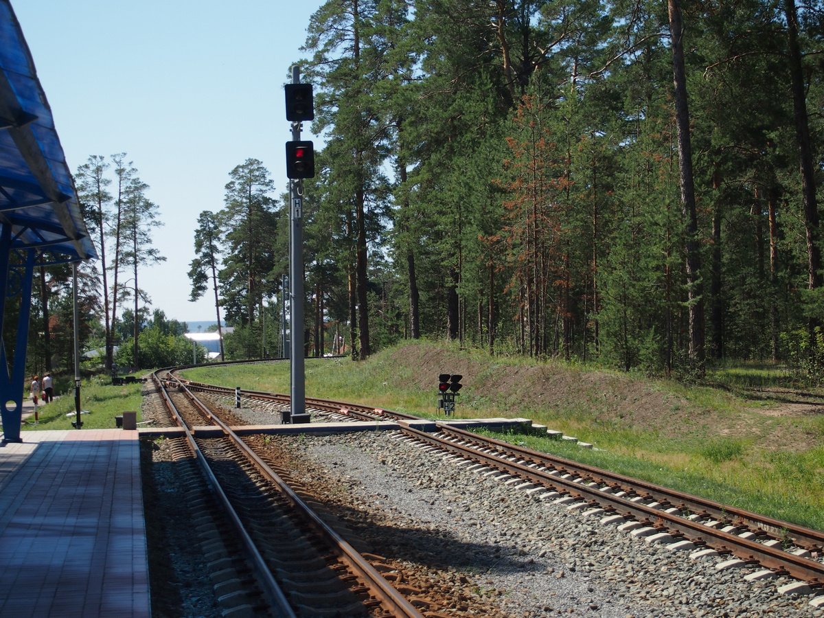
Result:
[[180,386],[184,389],[184,391],[189,393],[189,396],[195,405],[199,405],[199,407],[204,410],[204,412],[208,414],[216,424],[218,424],[218,427],[222,429],[222,432],[225,433],[227,437],[232,438],[232,442],[235,442],[236,446],[239,447],[241,451],[243,451],[244,454],[254,462],[255,467],[260,471],[260,473],[265,475],[267,479],[271,480],[278,487],[289,502],[291,502],[293,506],[302,513],[302,516],[307,518],[311,526],[321,532],[321,535],[325,537],[332,550],[334,550],[338,555],[339,559],[349,565],[349,568],[352,569],[355,574],[358,574],[358,577],[367,584],[369,590],[382,602],[386,610],[391,611],[394,616],[423,618],[423,615],[415,609],[415,607],[408,602],[406,598],[400,594],[400,592],[393,588],[391,584],[387,582],[386,579],[383,578],[383,576],[378,573],[366,559],[363,558],[362,555],[358,554],[352,545],[349,545],[349,542],[344,541],[344,539],[341,538],[341,536],[339,536],[338,533],[331,527],[329,527],[321,519],[321,517],[318,517],[317,514],[308,507],[307,503],[303,502],[303,500],[293,491],[292,488],[287,485],[280,475],[272,470],[265,461],[260,459],[260,456],[258,456],[249,447],[249,445],[246,444],[246,442],[237,436],[236,433],[232,432],[232,429],[229,428],[227,424],[223,423],[221,419],[218,419],[214,414],[212,414],[211,411],[208,410],[208,408],[203,405],[197,397],[191,393],[191,391],[189,391],[185,384],[180,382]]

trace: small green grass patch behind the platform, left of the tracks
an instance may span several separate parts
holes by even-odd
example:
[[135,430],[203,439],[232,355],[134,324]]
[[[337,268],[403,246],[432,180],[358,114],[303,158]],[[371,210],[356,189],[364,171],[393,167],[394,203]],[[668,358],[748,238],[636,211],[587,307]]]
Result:
[[[134,410],[140,421],[140,404],[143,389],[142,382],[111,386],[108,378],[96,377],[84,381],[80,385],[80,409],[88,414],[81,414],[83,429],[114,429],[115,416],[124,411]],[[74,391],[68,391],[56,397],[49,404],[41,405],[37,410],[38,423],[35,417],[30,416],[23,421],[23,430],[46,429],[73,429],[72,423],[77,420],[77,410],[74,405]]]

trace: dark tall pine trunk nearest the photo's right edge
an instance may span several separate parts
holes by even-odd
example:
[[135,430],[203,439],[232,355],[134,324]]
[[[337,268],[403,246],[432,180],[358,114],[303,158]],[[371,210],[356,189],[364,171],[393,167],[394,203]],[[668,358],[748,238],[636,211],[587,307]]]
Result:
[[[798,14],[794,0],[784,0],[784,14],[787,18],[789,75],[792,79],[795,138],[798,142],[798,166],[801,170],[801,193],[804,204],[804,230],[807,236],[808,288],[814,290],[822,285],[822,255],[821,249],[818,247],[819,217],[816,204],[815,169],[812,162],[807,101],[804,96],[801,49],[798,45]],[[820,321],[815,317],[811,317],[809,321],[810,349],[815,348],[815,329],[818,325],[820,325]]]

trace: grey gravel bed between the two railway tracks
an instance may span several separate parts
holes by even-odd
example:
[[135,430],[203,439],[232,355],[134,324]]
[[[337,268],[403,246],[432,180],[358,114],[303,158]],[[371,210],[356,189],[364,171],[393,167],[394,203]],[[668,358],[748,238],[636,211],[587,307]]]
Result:
[[[295,475],[307,486],[325,477],[323,485],[345,488],[354,513],[381,513],[387,525],[414,531],[414,559],[496,591],[508,616],[824,616],[811,597],[777,592],[790,578],[746,582],[759,567],[719,571],[728,556],[692,560],[690,551],[648,544],[394,432],[270,439],[302,460]],[[369,536],[367,527],[357,533]],[[381,545],[390,537],[372,536],[369,550],[391,555],[391,542]]]

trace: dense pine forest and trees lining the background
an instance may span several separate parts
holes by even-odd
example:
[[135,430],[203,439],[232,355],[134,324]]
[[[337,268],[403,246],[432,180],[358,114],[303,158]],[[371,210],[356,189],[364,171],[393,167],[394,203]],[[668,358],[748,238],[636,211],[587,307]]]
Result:
[[[307,354],[448,338],[680,379],[771,359],[820,382],[822,39],[814,0],[326,2],[296,59],[325,140],[302,181]],[[76,182],[101,255],[84,347],[107,371],[190,362],[139,287],[164,258],[138,170],[92,156]],[[226,358],[282,350],[286,204],[239,162],[195,260],[170,265],[234,327]],[[71,278],[35,276],[30,367],[68,369]]]

